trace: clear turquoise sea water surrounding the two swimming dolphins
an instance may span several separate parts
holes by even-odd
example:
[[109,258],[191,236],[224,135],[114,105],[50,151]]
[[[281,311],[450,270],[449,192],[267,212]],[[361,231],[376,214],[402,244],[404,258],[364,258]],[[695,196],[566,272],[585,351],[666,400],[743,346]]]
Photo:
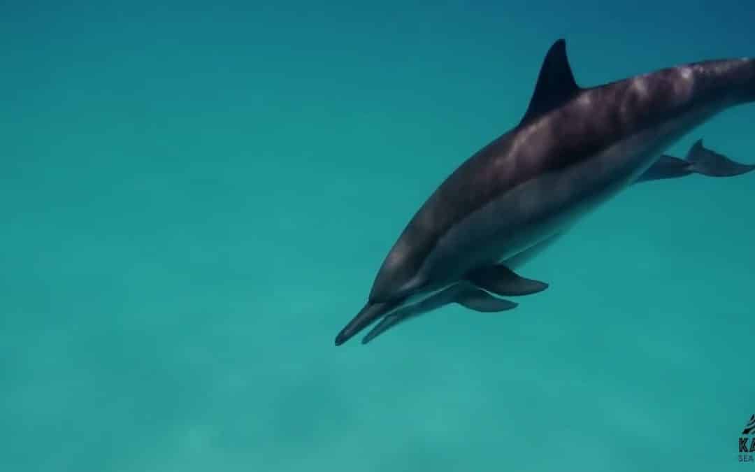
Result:
[[[750,470],[752,174],[630,188],[516,310],[333,339],[408,218],[578,82],[755,55],[742,2],[0,6],[0,470]],[[755,106],[698,137],[755,162]]]

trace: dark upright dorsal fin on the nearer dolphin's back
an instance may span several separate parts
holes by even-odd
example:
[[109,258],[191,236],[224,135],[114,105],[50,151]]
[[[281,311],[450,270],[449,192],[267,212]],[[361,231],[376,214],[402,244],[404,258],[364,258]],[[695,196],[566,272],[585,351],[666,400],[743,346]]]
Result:
[[580,88],[574,79],[569,58],[566,57],[566,42],[563,39],[553,43],[545,56],[543,66],[535,85],[535,93],[522,122],[536,118],[566,103],[578,94]]

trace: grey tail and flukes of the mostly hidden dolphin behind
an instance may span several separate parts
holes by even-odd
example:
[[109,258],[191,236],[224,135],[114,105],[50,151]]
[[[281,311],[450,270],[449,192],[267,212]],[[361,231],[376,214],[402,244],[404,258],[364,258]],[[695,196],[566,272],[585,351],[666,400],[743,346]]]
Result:
[[741,164],[703,146],[698,140],[687,153],[686,159],[673,156],[661,156],[637,182],[684,177],[691,174],[708,177],[733,177],[755,170],[755,165]]

